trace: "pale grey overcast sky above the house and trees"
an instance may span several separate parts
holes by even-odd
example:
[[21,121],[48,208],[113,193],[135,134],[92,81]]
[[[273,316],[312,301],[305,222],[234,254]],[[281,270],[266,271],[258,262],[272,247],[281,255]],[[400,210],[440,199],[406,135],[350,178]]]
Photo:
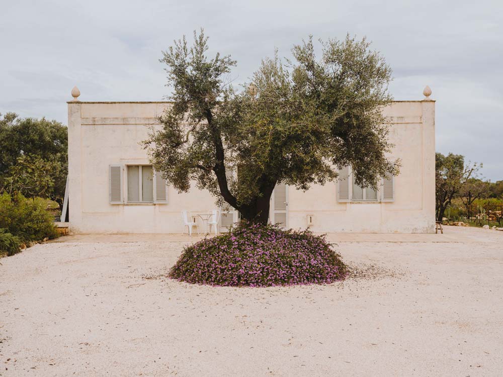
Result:
[[237,60],[245,81],[274,48],[288,56],[309,34],[373,41],[393,68],[396,100],[437,100],[437,151],[483,162],[503,179],[503,2],[474,1],[24,1],[0,0],[0,113],[67,123],[81,101],[161,101],[158,59],[204,27],[210,47]]

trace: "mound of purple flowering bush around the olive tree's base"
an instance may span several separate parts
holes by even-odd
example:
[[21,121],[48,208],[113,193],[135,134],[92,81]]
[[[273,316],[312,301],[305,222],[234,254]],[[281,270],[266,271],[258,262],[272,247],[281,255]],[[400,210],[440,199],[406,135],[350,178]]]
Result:
[[212,286],[270,287],[329,284],[346,273],[324,236],[241,222],[186,247],[169,276]]

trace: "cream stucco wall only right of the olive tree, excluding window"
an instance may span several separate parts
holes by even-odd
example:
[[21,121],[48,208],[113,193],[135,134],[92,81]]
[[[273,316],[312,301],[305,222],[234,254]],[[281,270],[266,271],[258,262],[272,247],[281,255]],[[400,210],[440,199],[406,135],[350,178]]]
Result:
[[431,233],[435,227],[435,103],[394,102],[390,117],[392,158],[400,158],[394,202],[338,203],[336,182],[308,192],[289,191],[289,226],[305,227],[314,215],[316,232]]

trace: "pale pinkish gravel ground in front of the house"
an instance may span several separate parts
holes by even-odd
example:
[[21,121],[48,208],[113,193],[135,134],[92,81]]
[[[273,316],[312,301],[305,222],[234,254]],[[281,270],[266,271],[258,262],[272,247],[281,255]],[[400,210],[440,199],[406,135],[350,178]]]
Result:
[[340,242],[346,281],[267,289],[165,278],[186,241],[36,245],[0,260],[0,375],[500,376],[499,233]]

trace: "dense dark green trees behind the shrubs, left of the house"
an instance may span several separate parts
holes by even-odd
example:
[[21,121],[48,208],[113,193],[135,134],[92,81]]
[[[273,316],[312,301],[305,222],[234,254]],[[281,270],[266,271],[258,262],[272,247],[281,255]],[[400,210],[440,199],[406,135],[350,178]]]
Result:
[[45,118],[0,115],[0,191],[62,206],[68,170],[67,128]]

